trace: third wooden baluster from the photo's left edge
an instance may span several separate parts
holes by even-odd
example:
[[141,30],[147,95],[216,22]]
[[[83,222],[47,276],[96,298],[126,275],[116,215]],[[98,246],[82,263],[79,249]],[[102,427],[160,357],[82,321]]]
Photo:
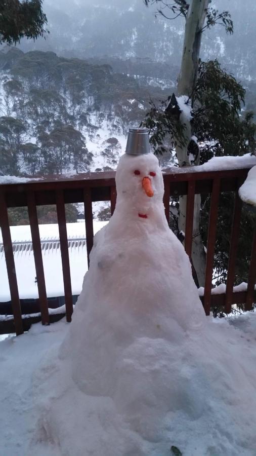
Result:
[[62,261],[62,272],[64,282],[64,293],[65,293],[65,305],[66,305],[66,319],[68,322],[71,321],[73,313],[73,302],[72,302],[72,288],[71,288],[71,277],[70,277],[70,266],[68,256],[68,238],[67,238],[67,226],[66,226],[66,215],[65,215],[65,202],[64,193],[62,190],[56,191],[56,206],[57,206],[57,217],[60,234],[60,250],[61,250],[61,261]]

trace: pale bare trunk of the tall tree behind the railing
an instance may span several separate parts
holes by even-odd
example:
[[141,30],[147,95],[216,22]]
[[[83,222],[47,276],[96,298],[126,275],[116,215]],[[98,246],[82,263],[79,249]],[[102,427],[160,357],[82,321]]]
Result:
[[[191,96],[193,86],[196,81],[199,52],[201,45],[201,29],[204,24],[206,11],[209,0],[191,0],[189,10],[186,17],[186,27],[184,36],[183,56],[181,70],[178,78],[178,95]],[[193,101],[193,100],[192,100]],[[181,113],[180,121],[186,125],[185,138],[186,144],[184,147],[176,147],[179,166],[192,166],[190,157],[187,153],[188,144],[191,139],[192,131],[191,124],[184,118]],[[199,154],[195,165],[199,164]],[[187,197],[180,198],[180,216],[179,230],[185,233],[186,226],[186,205]],[[194,221],[193,221],[193,237],[192,237],[192,262],[196,271],[199,286],[204,286],[205,281],[205,252],[200,235],[200,206],[201,196],[195,196],[194,204]]]

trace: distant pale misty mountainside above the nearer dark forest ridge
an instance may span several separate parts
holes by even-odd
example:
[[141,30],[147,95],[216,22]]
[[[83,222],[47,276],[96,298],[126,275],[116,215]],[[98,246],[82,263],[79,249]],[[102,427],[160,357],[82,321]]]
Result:
[[[256,79],[254,0],[216,0],[212,7],[228,10],[234,21],[234,35],[217,25],[203,33],[202,59],[218,57],[240,79]],[[53,51],[66,57],[108,57],[128,60],[126,72],[136,74],[134,63],[162,62],[164,68],[178,67],[181,60],[184,22],[182,18],[155,18],[156,5],[143,0],[45,0],[50,34],[47,39],[22,41],[20,48]],[[167,66],[164,66],[167,65]],[[140,65],[137,65],[140,66]],[[145,71],[149,66],[146,65]],[[176,71],[176,72],[177,72]],[[152,70],[151,70],[152,72]]]

